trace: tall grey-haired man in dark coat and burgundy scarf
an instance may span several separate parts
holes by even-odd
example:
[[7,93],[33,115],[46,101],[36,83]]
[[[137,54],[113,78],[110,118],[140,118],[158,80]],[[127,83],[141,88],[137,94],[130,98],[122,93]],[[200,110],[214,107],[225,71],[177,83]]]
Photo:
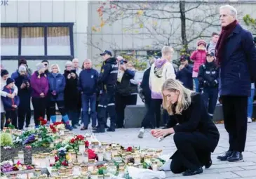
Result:
[[229,133],[229,150],[217,159],[243,160],[247,133],[247,101],[251,80],[256,77],[256,48],[252,34],[236,20],[233,6],[220,7],[222,32],[215,48],[220,65],[220,95],[224,126]]

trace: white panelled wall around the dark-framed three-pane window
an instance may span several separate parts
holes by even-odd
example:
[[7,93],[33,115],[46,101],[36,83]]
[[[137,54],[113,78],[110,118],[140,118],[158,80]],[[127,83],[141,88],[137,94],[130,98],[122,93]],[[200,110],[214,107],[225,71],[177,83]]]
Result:
[[[9,0],[8,6],[1,6],[1,22],[74,22],[74,56],[80,61],[87,58],[88,1]],[[10,72],[18,65],[17,60],[3,60],[1,63]],[[64,69],[65,62],[58,63]],[[35,64],[29,60],[32,69]]]

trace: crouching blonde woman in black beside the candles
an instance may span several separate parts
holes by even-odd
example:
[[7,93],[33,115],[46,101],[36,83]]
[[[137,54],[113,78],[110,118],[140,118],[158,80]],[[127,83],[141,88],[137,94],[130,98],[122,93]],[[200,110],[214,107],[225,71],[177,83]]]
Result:
[[156,138],[174,134],[177,151],[170,157],[170,170],[182,175],[203,173],[202,166],[209,168],[212,164],[210,154],[217,147],[220,133],[201,94],[184,88],[176,79],[168,79],[162,86],[162,95],[169,121],[165,128],[151,133]]

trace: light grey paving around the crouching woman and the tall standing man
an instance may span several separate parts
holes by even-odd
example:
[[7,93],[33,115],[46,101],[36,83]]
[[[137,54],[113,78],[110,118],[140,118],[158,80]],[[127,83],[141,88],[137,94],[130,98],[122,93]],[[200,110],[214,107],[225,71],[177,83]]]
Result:
[[[228,135],[224,129],[223,124],[217,124],[217,128],[220,131],[220,141],[217,145],[215,152],[212,154],[213,165],[203,170],[200,175],[194,175],[184,177],[181,174],[173,174],[172,172],[166,172],[166,178],[182,179],[182,178],[210,178],[210,179],[224,179],[224,178],[255,178],[256,179],[256,122],[248,124],[247,141],[245,146],[245,152],[243,152],[244,161],[229,162],[218,161],[217,155],[222,154],[228,149]],[[156,138],[153,138],[149,133],[149,129],[146,129],[144,138],[137,138],[137,134],[140,128],[119,128],[116,132],[107,132],[97,134],[96,137],[102,142],[114,142],[123,145],[124,147],[135,146],[141,148],[155,148],[162,149],[163,154],[173,154],[176,147],[173,142],[173,136],[169,136],[165,140],[158,142]],[[91,129],[87,131],[80,131],[80,129],[74,129],[74,133],[85,134],[90,133]],[[145,178],[146,179],[146,178]]]

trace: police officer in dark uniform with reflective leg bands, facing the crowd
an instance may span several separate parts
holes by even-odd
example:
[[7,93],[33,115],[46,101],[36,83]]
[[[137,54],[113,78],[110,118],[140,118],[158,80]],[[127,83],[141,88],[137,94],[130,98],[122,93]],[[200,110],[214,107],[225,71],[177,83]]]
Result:
[[119,67],[116,58],[112,58],[111,51],[100,53],[104,62],[100,70],[98,84],[100,86],[100,101],[98,105],[97,123],[98,128],[93,133],[105,133],[107,123],[106,110],[110,117],[110,127],[107,131],[114,132],[116,126],[115,92]]

